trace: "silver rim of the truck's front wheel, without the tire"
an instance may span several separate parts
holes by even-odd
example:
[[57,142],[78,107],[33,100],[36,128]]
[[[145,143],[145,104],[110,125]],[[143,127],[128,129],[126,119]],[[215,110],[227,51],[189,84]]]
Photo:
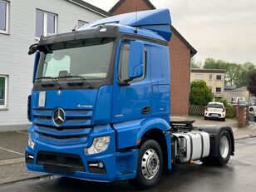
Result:
[[142,175],[146,180],[151,180],[158,173],[159,169],[160,160],[155,150],[146,150],[141,160]]

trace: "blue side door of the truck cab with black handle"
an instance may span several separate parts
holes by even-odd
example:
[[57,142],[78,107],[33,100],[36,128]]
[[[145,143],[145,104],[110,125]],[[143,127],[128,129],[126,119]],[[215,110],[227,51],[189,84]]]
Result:
[[144,75],[130,81],[130,85],[120,85],[118,81],[128,79],[128,63],[130,42],[122,42],[119,54],[116,57],[116,74],[113,90],[113,116],[112,121],[131,121],[150,116],[150,65],[149,49],[145,44]]

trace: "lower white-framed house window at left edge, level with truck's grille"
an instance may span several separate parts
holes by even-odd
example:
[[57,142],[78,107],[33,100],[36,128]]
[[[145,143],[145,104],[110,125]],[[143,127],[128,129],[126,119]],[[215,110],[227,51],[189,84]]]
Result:
[[0,75],[0,110],[7,109],[7,76]]

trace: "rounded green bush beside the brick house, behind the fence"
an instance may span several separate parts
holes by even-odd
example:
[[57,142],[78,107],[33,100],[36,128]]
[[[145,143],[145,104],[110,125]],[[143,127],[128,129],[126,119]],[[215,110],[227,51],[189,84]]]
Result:
[[206,106],[213,100],[213,94],[205,81],[192,81],[190,85],[190,104],[195,106]]

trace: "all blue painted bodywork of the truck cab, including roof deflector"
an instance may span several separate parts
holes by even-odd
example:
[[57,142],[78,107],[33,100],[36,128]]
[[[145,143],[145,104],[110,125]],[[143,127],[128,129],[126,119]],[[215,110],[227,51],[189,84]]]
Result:
[[[116,19],[119,23],[114,25],[118,27],[121,35],[133,34],[165,42],[170,40],[170,12],[167,9],[137,12],[137,15],[137,20],[135,13],[106,18],[93,22],[81,30],[102,22],[113,22]],[[135,26],[140,28],[135,31]],[[113,55],[113,60],[116,62],[113,63],[111,85],[94,90],[46,91],[44,107],[38,106],[40,91],[32,91],[32,126],[28,131],[36,143],[36,149],[32,150],[28,146],[26,148],[26,151],[35,157],[34,164],[27,164],[28,170],[47,172],[42,166],[36,165],[38,151],[44,150],[79,155],[85,165],[86,172],[76,171],[73,175],[54,173],[57,175],[103,182],[133,179],[136,175],[139,153],[137,141],[152,129],[158,129],[165,135],[168,168],[171,169],[170,133],[165,132],[170,129],[169,47],[153,42],[141,40],[140,42],[142,46],[140,50],[145,49],[145,71],[139,72],[140,75],[143,74],[143,78],[140,81],[130,81],[130,86],[120,86],[118,83],[121,46],[124,43],[129,45],[130,42],[117,39],[116,55]],[[137,50],[131,51],[130,55],[135,55],[135,52]],[[36,56],[34,76],[37,60]],[[138,62],[135,66],[140,64],[141,57],[132,62]],[[55,126],[52,114],[58,107],[66,113],[65,123],[62,126],[71,129],[52,129]],[[150,107],[148,113],[142,113],[145,107]],[[76,137],[77,135],[83,136]],[[93,138],[104,135],[111,135],[108,149],[100,154],[85,155],[84,149],[91,146]],[[60,140],[54,136],[75,137]],[[104,162],[106,175],[89,173],[87,162],[96,160]]]

